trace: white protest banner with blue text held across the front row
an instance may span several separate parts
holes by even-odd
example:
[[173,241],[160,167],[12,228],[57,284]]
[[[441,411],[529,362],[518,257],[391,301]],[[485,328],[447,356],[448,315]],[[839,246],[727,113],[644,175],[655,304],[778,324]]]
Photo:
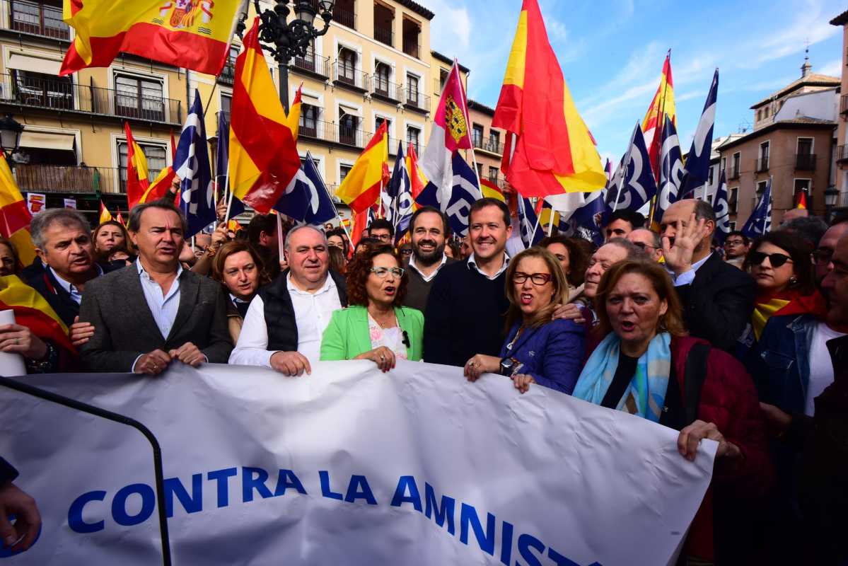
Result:
[[[666,564],[711,478],[716,443],[688,462],[672,429],[544,387],[312,368],[24,379],[158,437],[176,564]],[[0,454],[44,522],[0,564],[161,563],[141,434],[3,387],[0,412]]]

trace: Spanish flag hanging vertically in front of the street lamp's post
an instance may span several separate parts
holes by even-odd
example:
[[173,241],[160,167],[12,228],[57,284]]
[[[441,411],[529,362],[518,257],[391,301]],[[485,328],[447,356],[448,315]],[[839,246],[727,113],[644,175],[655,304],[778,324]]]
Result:
[[259,18],[236,59],[230,120],[230,189],[267,214],[300,169],[300,157],[259,45]]

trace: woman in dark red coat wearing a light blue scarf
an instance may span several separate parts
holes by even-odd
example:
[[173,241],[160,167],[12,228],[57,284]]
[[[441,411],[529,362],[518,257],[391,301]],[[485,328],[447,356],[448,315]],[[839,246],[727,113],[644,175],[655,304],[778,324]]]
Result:
[[[595,309],[596,329],[605,337],[572,395],[679,430],[678,451],[689,460],[695,459],[700,440],[716,440],[713,490],[699,512],[706,523],[695,518],[685,553],[715,563],[722,563],[717,557],[723,552],[747,557],[740,549],[746,537],[749,545],[754,540],[745,530],[754,521],[745,515],[750,502],[741,503],[739,494],[761,496],[772,470],[765,423],[745,367],[705,340],[686,335],[674,285],[656,262],[611,266],[601,277]],[[726,494],[732,494],[728,502]],[[711,501],[720,498],[716,508],[721,513],[711,517]],[[743,558],[740,563],[756,561]]]

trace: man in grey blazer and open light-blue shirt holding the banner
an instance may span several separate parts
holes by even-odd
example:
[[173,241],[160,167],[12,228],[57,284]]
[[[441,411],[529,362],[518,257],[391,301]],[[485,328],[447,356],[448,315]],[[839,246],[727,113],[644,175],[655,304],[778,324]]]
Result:
[[80,321],[93,335],[80,346],[96,372],[158,375],[171,361],[226,363],[232,342],[219,283],[183,270],[180,209],[159,200],[136,205],[128,225],[138,260],[86,285]]

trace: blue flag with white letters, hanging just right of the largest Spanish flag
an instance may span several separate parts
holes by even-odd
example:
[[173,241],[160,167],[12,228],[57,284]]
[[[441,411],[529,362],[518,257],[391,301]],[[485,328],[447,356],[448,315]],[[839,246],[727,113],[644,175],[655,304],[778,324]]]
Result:
[[648,149],[644,145],[642,127],[633,129],[630,147],[612,177],[606,193],[609,210],[639,210],[656,194],[656,180],[650,168]]

